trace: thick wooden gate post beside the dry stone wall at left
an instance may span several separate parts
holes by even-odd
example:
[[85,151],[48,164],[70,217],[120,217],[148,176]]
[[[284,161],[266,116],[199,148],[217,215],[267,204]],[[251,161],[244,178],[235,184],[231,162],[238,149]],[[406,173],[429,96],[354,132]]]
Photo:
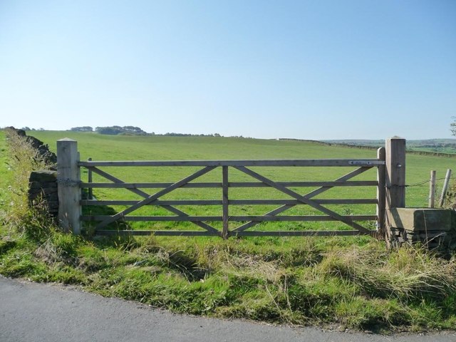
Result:
[[58,222],[64,232],[81,234],[81,174],[78,142],[57,140]]

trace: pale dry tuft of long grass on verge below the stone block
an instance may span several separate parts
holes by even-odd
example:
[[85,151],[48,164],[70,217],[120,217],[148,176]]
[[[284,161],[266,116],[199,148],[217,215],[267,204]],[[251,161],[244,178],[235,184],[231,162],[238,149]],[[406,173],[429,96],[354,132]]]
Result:
[[416,301],[440,298],[456,291],[455,260],[441,259],[418,245],[394,251],[338,251],[326,257],[324,267],[379,298]]

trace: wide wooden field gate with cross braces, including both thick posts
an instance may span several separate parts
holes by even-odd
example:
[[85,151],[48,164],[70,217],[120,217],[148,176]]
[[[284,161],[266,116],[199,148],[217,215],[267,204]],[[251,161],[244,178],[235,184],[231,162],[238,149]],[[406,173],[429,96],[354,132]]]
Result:
[[[223,238],[241,236],[348,236],[385,234],[385,212],[390,207],[405,207],[405,140],[391,138],[386,140],[385,147],[380,147],[373,159],[322,159],[322,160],[180,160],[180,161],[80,161],[77,142],[62,139],[57,142],[57,172],[59,197],[59,222],[66,231],[80,234],[82,222],[98,222],[95,234],[129,234],[129,235],[168,235],[168,236],[219,236]],[[88,174],[98,174],[109,182],[81,181],[81,167],[86,167]],[[129,183],[110,175],[105,170],[109,167],[201,167],[187,177],[170,183]],[[222,168],[221,182],[192,182],[217,167]],[[256,171],[249,167],[256,167]],[[354,170],[336,180],[318,182],[276,182],[257,172],[259,167],[353,167]],[[376,180],[353,181],[353,177],[375,167]],[[252,177],[255,182],[230,182],[229,170],[235,169]],[[91,178],[91,177],[89,177]],[[376,198],[373,199],[314,199],[333,187],[375,186]],[[219,199],[160,199],[170,192],[182,187],[220,188]],[[289,199],[230,199],[229,189],[235,187],[271,187],[289,196]],[[315,190],[300,195],[290,187],[317,187]],[[88,197],[82,199],[82,189],[122,188],[142,197],[140,200],[98,200]],[[161,189],[157,192],[145,192],[143,189]],[[263,215],[230,215],[232,205],[276,204],[276,209]],[[321,212],[322,215],[279,215],[296,205],[306,204]],[[376,204],[375,215],[341,215],[325,204]],[[122,205],[126,209],[112,215],[82,215],[82,206]],[[172,216],[133,216],[130,213],[146,205],[160,206],[171,212]],[[191,216],[178,209],[182,205],[220,205],[222,215]],[[116,221],[145,222],[192,222],[199,230],[132,230],[106,229]],[[350,230],[292,230],[292,231],[259,231],[249,230],[260,222],[309,222],[338,221]],[[375,221],[376,229],[364,227],[358,222]],[[216,229],[209,223],[222,222],[222,229]],[[241,222],[239,227],[229,229],[229,222]]]

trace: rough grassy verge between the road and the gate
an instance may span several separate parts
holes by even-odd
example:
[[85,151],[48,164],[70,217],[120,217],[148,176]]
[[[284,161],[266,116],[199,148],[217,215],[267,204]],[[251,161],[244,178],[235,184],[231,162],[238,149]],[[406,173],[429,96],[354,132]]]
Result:
[[[90,238],[26,203],[33,150],[0,132],[0,274],[175,312],[394,331],[456,326],[456,259],[351,238]],[[94,151],[95,152],[95,151]],[[100,158],[101,159],[101,158]]]

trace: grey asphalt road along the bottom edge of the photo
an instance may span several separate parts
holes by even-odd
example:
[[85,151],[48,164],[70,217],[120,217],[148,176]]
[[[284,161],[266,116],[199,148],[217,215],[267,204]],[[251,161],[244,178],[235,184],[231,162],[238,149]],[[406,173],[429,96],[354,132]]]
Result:
[[0,341],[455,342],[456,333],[380,336],[181,316],[66,286],[0,276]]

